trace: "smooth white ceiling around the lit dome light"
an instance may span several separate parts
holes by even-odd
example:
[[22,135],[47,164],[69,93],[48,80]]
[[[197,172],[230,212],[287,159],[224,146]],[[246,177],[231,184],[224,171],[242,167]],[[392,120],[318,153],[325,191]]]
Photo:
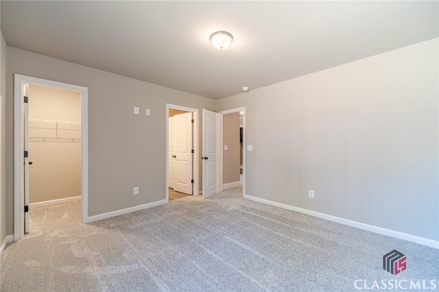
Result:
[[[219,99],[438,37],[438,1],[1,1],[9,46]],[[211,47],[217,30],[229,49]]]

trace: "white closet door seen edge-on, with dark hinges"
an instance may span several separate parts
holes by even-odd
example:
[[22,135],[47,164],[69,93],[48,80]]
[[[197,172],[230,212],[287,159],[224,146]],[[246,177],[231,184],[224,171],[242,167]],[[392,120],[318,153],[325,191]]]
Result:
[[23,145],[24,145],[24,195],[25,195],[25,233],[29,233],[29,84],[23,88]]

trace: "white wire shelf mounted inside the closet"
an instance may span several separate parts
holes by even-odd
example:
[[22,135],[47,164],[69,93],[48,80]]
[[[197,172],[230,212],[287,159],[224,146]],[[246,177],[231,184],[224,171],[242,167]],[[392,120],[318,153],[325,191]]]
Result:
[[75,121],[54,121],[44,119],[29,119],[29,138],[68,139],[80,141],[81,123]]

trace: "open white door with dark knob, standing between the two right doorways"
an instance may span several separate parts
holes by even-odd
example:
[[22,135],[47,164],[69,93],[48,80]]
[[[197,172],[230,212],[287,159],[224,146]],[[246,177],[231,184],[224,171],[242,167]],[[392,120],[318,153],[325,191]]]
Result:
[[203,199],[222,191],[222,114],[203,109]]

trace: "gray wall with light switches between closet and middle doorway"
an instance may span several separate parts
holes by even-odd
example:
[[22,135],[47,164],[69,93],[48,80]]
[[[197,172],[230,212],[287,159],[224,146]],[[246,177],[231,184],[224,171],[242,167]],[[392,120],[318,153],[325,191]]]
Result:
[[[215,101],[179,90],[8,49],[7,208],[13,210],[13,74],[88,87],[88,215],[165,199],[166,104],[215,108]],[[139,106],[139,115],[132,114]],[[150,117],[145,116],[150,108]],[[132,195],[139,186],[139,195]],[[8,234],[13,218],[8,214]]]

